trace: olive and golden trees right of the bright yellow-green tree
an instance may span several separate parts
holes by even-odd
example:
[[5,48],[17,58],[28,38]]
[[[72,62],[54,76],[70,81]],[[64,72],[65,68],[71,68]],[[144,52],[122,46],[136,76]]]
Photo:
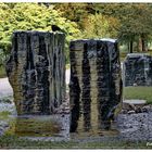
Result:
[[130,45],[127,47],[130,52],[148,50],[147,43],[152,38],[152,4],[65,3],[55,8],[78,24],[83,38],[117,38],[121,45]]

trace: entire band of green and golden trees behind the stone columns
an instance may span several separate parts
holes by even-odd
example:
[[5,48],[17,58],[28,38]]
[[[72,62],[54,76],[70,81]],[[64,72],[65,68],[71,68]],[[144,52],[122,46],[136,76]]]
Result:
[[68,43],[78,38],[115,38],[121,51],[147,52],[152,41],[152,4],[0,3],[0,62],[11,50],[14,30],[49,30],[58,25]]

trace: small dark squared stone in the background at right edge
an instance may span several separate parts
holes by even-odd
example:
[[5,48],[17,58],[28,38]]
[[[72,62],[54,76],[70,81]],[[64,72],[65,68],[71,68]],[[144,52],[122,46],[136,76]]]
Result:
[[128,54],[124,62],[125,86],[152,86],[152,56]]

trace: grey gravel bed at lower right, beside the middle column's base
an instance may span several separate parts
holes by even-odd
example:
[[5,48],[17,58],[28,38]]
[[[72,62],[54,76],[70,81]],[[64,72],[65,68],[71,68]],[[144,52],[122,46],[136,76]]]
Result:
[[152,140],[152,112],[119,114],[117,122],[122,139],[130,141]]

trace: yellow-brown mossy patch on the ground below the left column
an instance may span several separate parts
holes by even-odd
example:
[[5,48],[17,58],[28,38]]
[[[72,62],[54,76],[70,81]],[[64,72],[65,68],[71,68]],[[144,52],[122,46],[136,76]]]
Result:
[[58,123],[51,119],[38,118],[17,118],[15,134],[18,136],[47,137],[60,132]]

